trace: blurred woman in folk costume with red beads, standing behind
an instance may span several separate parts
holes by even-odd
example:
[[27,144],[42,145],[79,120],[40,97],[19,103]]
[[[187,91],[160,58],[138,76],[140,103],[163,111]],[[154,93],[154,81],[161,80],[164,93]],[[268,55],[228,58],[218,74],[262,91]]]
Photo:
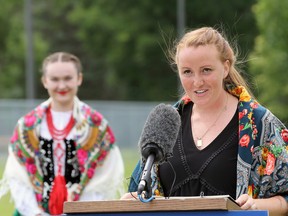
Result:
[[76,96],[79,59],[57,52],[42,70],[50,98],[18,121],[2,180],[16,215],[55,215],[64,201],[119,198],[122,157],[106,119]]

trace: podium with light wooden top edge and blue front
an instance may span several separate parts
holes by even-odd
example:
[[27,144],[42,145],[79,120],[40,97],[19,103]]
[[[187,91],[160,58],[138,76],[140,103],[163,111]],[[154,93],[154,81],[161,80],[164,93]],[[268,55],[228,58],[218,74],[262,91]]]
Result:
[[67,216],[268,216],[267,211],[241,210],[229,196],[156,198],[142,203],[136,199],[76,201],[64,203]]

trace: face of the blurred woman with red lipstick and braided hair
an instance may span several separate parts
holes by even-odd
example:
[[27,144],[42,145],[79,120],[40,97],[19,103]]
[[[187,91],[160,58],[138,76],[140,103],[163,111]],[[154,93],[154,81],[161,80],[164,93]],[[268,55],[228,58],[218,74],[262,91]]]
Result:
[[52,98],[53,109],[70,110],[82,83],[82,73],[77,73],[73,62],[52,62],[45,68],[42,83]]

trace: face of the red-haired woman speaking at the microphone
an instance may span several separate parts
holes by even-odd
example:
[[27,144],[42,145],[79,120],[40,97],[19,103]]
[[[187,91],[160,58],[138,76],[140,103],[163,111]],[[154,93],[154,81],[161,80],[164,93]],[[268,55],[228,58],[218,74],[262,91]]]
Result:
[[230,66],[228,60],[220,60],[214,45],[182,48],[177,67],[182,86],[195,105],[213,106],[224,96],[223,80]]

